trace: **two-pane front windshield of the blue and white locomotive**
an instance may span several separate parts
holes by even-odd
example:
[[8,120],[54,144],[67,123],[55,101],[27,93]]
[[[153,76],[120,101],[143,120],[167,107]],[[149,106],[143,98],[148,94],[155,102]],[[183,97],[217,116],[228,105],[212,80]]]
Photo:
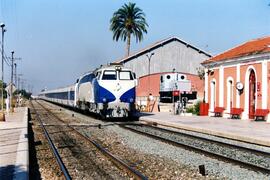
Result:
[[[118,75],[118,78],[117,78]],[[134,77],[131,71],[114,71],[105,70],[103,72],[102,80],[133,80]]]

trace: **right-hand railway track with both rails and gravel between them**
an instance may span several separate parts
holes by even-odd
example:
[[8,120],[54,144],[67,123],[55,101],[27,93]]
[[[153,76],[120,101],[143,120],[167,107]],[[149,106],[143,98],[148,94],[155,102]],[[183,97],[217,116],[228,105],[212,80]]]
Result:
[[[237,164],[254,171],[270,174],[270,153],[247,147],[228,144],[196,135],[164,129],[152,125],[120,125],[120,127],[163,142],[180,146],[209,157]],[[219,150],[217,148],[220,148]],[[237,154],[236,154],[237,153]],[[241,159],[239,156],[245,156]],[[254,159],[254,158],[257,158]],[[257,162],[257,163],[256,163]]]

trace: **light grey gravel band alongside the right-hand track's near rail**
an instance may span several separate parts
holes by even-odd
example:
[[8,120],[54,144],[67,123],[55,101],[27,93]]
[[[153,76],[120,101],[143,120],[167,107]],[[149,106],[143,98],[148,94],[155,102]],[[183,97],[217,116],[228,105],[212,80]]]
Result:
[[240,168],[237,165],[232,165],[216,159],[212,159],[191,151],[187,151],[166,143],[155,141],[151,138],[130,133],[127,130],[111,127],[114,132],[123,140],[129,147],[136,149],[139,152],[152,155],[159,155],[165,158],[177,161],[186,166],[191,166],[195,169],[199,165],[204,164],[209,175],[217,178],[226,179],[269,179],[270,176],[260,172],[254,172]]

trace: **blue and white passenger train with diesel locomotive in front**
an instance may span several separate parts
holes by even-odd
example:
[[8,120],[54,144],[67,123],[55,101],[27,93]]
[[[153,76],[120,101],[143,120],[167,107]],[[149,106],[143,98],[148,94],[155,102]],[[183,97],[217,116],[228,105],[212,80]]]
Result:
[[83,74],[73,85],[42,91],[38,97],[102,118],[125,118],[134,115],[137,83],[132,70],[111,63]]

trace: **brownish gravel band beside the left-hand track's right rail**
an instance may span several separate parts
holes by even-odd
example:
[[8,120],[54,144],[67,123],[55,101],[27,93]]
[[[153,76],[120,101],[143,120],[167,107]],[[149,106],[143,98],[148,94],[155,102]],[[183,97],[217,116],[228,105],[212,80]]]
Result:
[[198,171],[161,155],[147,154],[129,148],[127,143],[118,138],[114,129],[118,130],[119,127],[112,125],[102,127],[102,129],[84,128],[80,131],[97,139],[110,152],[117,154],[120,159],[134,166],[149,179],[215,179],[203,177]]

